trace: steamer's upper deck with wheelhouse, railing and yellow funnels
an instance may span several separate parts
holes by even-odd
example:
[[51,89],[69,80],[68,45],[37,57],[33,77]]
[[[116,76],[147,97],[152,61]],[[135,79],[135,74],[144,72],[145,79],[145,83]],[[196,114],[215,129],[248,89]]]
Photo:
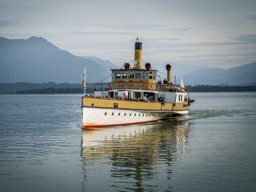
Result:
[[[138,39],[137,39],[138,40]],[[121,69],[111,69],[111,82],[95,84],[94,91],[109,90],[144,90],[148,92],[186,92],[171,82],[171,66],[166,65],[167,79],[164,84],[156,82],[157,70],[151,68],[150,63],[141,68],[142,43],[135,42],[134,66],[125,63]],[[175,81],[174,81],[175,82]]]

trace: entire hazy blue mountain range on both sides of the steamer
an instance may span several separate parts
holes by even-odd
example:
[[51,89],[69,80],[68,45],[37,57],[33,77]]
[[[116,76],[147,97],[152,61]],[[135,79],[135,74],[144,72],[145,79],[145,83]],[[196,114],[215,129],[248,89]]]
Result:
[[[159,70],[158,75],[162,80],[166,77],[165,65],[170,63],[171,75],[177,76],[178,84],[180,77],[183,76],[183,81],[187,85],[256,85],[254,75],[256,62],[228,70],[209,68],[207,65],[186,66],[172,62],[157,64],[154,61],[150,63],[151,67]],[[99,82],[109,76],[111,67],[121,68],[97,57],[77,57],[60,50],[42,37],[28,39],[0,37],[0,83],[81,83],[84,66],[86,66],[86,82],[90,83]],[[109,81],[110,78],[105,79],[105,82]]]

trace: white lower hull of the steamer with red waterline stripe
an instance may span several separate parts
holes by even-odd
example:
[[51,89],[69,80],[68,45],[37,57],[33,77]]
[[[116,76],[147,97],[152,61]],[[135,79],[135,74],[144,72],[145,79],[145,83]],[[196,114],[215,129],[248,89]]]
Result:
[[141,124],[173,118],[188,119],[188,110],[149,111],[83,107],[83,127]]

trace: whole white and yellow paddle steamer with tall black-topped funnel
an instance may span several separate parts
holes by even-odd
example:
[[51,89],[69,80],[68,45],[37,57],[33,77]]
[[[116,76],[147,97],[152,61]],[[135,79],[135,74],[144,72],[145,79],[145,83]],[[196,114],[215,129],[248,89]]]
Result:
[[150,63],[141,67],[142,43],[138,39],[131,62],[121,69],[111,69],[111,82],[94,84],[91,97],[82,97],[83,127],[188,119],[189,94],[183,82],[178,87],[171,81],[171,66],[166,65],[167,81],[159,84],[158,71]]

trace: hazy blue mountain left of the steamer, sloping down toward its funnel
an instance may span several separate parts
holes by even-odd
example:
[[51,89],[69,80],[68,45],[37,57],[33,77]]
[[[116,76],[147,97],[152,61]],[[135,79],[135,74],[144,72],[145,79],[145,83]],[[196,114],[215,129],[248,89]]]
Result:
[[[86,82],[98,82],[110,75],[103,65],[60,50],[41,37],[0,37],[0,83],[80,83],[84,66]],[[116,66],[113,64],[113,67]]]

